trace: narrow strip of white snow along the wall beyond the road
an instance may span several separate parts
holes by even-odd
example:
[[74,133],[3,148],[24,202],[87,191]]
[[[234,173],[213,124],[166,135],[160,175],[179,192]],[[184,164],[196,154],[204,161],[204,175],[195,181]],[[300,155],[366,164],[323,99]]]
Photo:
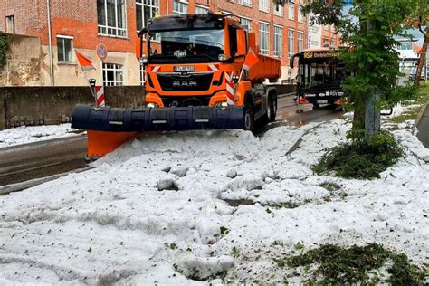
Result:
[[0,148],[71,136],[75,130],[68,123],[0,130]]

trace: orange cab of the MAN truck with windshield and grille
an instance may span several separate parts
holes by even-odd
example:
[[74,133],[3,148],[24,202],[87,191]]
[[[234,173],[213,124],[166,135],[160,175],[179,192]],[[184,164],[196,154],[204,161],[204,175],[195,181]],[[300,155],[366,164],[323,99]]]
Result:
[[221,14],[151,19],[139,33],[137,49],[147,106],[228,105],[226,92],[238,80],[247,38],[236,20]]

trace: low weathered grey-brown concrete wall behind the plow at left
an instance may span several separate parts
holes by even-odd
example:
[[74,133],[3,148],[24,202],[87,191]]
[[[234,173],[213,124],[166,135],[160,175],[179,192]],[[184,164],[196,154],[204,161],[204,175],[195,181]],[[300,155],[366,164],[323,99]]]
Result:
[[[141,86],[106,87],[107,104],[137,107],[144,102]],[[71,121],[77,103],[93,103],[88,87],[0,88],[0,129]]]

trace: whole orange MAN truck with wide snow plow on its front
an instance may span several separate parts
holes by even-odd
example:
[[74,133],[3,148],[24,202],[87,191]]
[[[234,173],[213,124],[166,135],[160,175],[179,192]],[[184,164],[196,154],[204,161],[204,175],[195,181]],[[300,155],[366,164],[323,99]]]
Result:
[[[254,51],[254,52],[253,52]],[[244,64],[253,56],[253,66]],[[145,107],[77,105],[71,127],[88,130],[88,157],[101,157],[139,132],[253,129],[275,119],[281,61],[259,54],[255,33],[224,14],[160,16],[138,34]]]

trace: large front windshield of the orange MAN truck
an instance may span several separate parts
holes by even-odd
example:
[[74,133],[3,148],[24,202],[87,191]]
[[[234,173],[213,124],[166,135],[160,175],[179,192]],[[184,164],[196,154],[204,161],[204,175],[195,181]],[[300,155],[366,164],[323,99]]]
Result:
[[149,63],[219,62],[224,53],[224,29],[151,33],[149,41]]

